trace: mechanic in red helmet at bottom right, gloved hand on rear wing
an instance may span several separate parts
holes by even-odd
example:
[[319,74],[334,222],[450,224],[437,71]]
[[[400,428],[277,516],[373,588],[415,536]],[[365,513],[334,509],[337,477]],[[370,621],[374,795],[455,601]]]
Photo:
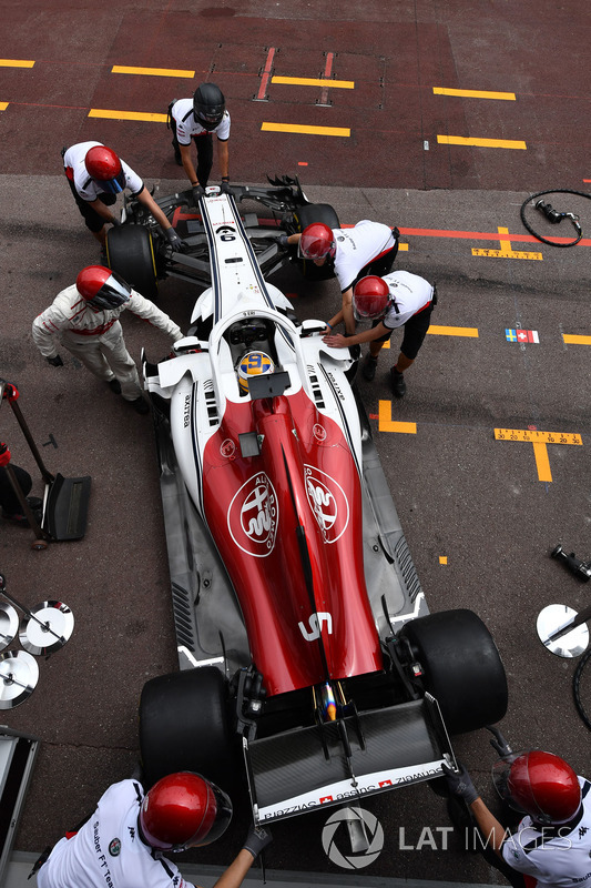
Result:
[[459,771],[445,770],[451,794],[470,809],[482,841],[517,877],[513,885],[591,886],[591,784],[567,761],[532,749],[495,764],[492,779],[501,799],[526,815],[513,834],[482,801],[462,765]]

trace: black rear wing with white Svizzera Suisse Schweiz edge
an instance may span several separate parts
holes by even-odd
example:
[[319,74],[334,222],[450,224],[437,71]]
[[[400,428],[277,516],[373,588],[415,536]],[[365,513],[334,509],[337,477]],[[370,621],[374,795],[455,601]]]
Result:
[[429,694],[243,745],[255,823],[431,780],[455,763]]

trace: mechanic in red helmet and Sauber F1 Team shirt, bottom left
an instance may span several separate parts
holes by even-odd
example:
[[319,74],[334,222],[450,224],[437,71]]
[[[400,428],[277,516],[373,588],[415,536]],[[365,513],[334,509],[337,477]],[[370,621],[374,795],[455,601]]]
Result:
[[[38,865],[39,888],[193,888],[165,851],[215,841],[232,819],[232,803],[198,774],[163,777],[144,795],[137,780],[113,784],[75,833],[67,833]],[[242,850],[215,885],[238,888],[272,840],[252,828]],[[44,858],[44,862],[41,861]]]

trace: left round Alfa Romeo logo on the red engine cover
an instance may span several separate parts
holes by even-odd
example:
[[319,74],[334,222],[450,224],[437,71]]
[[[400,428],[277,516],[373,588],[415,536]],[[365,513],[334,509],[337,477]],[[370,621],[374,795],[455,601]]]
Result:
[[265,558],[273,552],[277,518],[277,494],[265,472],[253,475],[242,485],[227,511],[233,541],[255,558]]

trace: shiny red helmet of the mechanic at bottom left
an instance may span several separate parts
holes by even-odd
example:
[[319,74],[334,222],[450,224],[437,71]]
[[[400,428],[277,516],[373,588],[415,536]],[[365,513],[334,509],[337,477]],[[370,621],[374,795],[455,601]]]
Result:
[[170,774],[150,789],[140,808],[142,837],[152,848],[184,851],[215,841],[232,820],[232,803],[198,774]]

